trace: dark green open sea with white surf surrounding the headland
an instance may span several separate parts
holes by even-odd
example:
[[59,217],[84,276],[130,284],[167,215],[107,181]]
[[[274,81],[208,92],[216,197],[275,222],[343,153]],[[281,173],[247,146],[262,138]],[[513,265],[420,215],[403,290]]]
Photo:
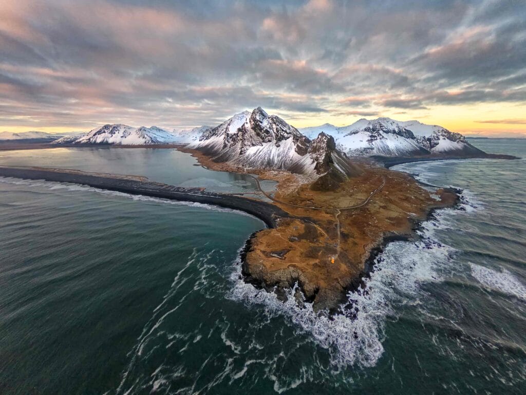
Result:
[[386,248],[355,320],[244,284],[250,216],[0,179],[0,393],[525,393],[526,161],[397,170],[463,210]]

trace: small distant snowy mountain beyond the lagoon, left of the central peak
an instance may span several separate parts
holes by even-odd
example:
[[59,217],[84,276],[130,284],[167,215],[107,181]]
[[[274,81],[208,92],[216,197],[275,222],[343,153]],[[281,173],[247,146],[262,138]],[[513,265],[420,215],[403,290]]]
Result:
[[109,145],[151,145],[170,144],[176,137],[157,126],[131,127],[123,124],[104,125],[88,133],[66,136],[54,141],[55,144],[109,144]]

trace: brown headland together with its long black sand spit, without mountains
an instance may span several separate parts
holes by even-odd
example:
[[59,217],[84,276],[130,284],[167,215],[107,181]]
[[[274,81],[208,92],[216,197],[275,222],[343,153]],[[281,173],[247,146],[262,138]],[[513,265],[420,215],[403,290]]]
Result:
[[[428,192],[424,192],[417,185],[420,183],[405,173],[385,170],[382,167],[371,167],[366,173],[368,175],[358,181],[359,188],[354,193],[356,199],[359,199],[360,196],[367,196],[375,188],[378,189],[379,177],[387,177],[392,181],[385,193],[381,193],[378,199],[376,197],[373,199],[374,202],[368,205],[359,204],[356,210],[351,209],[342,214],[340,217],[342,230],[339,233],[340,221],[338,221],[338,231],[333,228],[337,209],[327,208],[313,211],[295,206],[295,203],[301,203],[301,199],[304,199],[306,195],[312,195],[315,202],[319,196],[322,199],[326,197],[326,193],[310,191],[308,184],[301,182],[297,187],[304,188],[305,191],[296,190],[291,193],[290,190],[284,192],[281,189],[281,195],[279,195],[279,190],[277,192],[280,200],[267,203],[238,195],[216,194],[199,188],[181,188],[150,182],[144,177],[41,167],[0,166],[0,176],[84,184],[129,194],[214,204],[254,215],[264,221],[269,229],[252,234],[241,251],[241,272],[244,280],[257,288],[276,292],[280,299],[286,298],[286,289],[298,283],[302,291],[302,295],[295,295],[298,303],[301,304],[304,301],[313,303],[315,310],[328,310],[330,314],[338,312],[340,305],[347,300],[345,297],[349,291],[356,291],[363,286],[363,278],[369,276],[373,271],[376,257],[388,243],[411,239],[416,234],[415,230],[418,229],[418,226],[431,218],[434,210],[458,204],[457,191],[446,189],[441,189],[439,193],[441,201],[433,202],[426,197]],[[262,175],[265,177],[265,174]],[[290,181],[289,178],[280,180],[286,180],[285,184]],[[279,179],[276,181],[279,182]],[[353,182],[351,181],[351,184]],[[409,185],[412,186],[409,187]],[[344,199],[345,202],[349,200],[349,197],[345,197],[348,192],[342,191],[342,193],[333,192],[335,196],[333,203],[337,206],[342,205],[341,199]],[[381,212],[385,211],[387,206],[392,205],[392,199],[395,199],[395,206],[388,210],[395,209],[396,211],[400,204],[396,201],[400,199],[404,201],[409,195],[416,196],[417,200],[410,205],[407,205],[407,202],[402,203],[400,206],[404,207],[402,211],[420,214],[389,217],[397,222],[396,226],[389,224],[392,221],[387,218],[388,222],[382,220]],[[325,201],[325,204],[329,201]],[[369,208],[370,205],[372,208]],[[369,224],[363,222],[371,218],[374,222],[378,218],[382,224],[371,225],[370,221]],[[356,229],[353,229],[355,226],[366,228],[365,233],[355,234]],[[342,238],[341,252],[340,236]],[[289,242],[284,247],[282,241],[285,239],[288,239]],[[262,240],[267,241],[261,244]],[[356,244],[357,240],[358,244]],[[352,246],[355,244],[356,246]],[[330,264],[323,258],[326,255],[333,257],[340,255],[340,258],[336,258],[337,264]]]

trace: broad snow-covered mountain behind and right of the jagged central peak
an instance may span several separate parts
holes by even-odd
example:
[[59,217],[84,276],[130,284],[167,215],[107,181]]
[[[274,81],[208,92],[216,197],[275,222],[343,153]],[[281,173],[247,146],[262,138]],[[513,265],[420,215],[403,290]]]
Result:
[[348,155],[469,155],[480,154],[460,133],[442,126],[391,118],[361,119],[351,125],[331,124],[300,129],[306,136],[325,132],[335,137],[338,149]]

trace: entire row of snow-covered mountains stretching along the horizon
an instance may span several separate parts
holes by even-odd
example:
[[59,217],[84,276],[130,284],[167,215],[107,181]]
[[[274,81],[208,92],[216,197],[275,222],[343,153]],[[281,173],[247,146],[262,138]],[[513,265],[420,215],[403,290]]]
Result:
[[[5,132],[4,132],[5,133]],[[32,132],[39,133],[42,132]],[[2,134],[0,134],[1,136]],[[47,135],[49,136],[49,135]],[[187,144],[218,162],[251,169],[320,173],[343,166],[347,156],[474,157],[483,156],[460,133],[439,125],[391,118],[365,118],[347,126],[323,124],[296,129],[261,107],[228,118],[218,126],[168,132],[156,126],[107,124],[88,133],[68,135],[55,144],[154,145]],[[323,146],[323,147],[321,147]],[[316,147],[316,148],[314,148]],[[323,159],[320,159],[323,157]],[[323,164],[325,163],[325,164]],[[340,169],[346,173],[346,169]]]

